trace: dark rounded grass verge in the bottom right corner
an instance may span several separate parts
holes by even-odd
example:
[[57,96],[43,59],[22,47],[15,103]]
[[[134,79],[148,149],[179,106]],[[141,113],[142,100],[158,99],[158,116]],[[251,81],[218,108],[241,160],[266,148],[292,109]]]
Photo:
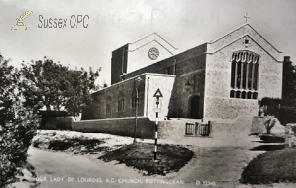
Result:
[[244,169],[241,183],[269,184],[296,182],[296,148],[268,151],[258,155]]

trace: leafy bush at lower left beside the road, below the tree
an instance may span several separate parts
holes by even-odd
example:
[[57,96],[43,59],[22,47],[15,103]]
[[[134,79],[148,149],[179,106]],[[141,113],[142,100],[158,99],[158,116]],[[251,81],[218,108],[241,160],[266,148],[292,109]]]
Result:
[[7,122],[0,132],[0,186],[11,178],[16,167],[27,160],[27,150],[36,134],[38,116],[33,111],[18,110],[18,116]]

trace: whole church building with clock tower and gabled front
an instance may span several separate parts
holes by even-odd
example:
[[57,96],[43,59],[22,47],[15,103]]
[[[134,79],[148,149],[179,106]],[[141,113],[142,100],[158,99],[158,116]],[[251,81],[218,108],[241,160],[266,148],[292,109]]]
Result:
[[[112,52],[111,86],[92,93],[86,119],[233,120],[281,98],[282,52],[250,24],[179,53],[152,33]],[[138,100],[137,100],[138,99]]]

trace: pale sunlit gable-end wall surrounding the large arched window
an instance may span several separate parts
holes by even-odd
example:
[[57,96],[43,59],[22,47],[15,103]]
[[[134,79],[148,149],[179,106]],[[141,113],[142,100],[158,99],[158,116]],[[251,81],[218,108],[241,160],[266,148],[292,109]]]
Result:
[[[250,41],[248,48],[245,39]],[[248,50],[260,56],[258,99],[281,98],[282,55],[249,25],[209,43],[208,49],[205,118],[235,119],[258,114],[258,100],[230,98],[231,54],[235,51]]]

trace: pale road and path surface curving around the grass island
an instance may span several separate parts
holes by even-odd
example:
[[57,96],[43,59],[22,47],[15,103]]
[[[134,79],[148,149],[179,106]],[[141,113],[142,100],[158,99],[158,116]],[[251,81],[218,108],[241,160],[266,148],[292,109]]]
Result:
[[[59,133],[60,134],[60,133]],[[91,134],[62,132],[77,136],[82,134],[90,138],[105,138],[106,146],[113,147],[118,144],[130,144],[132,138],[120,137],[108,134]],[[58,136],[58,135],[57,135]],[[153,142],[153,140],[140,140],[141,142]],[[266,188],[265,185],[251,186],[240,185],[238,183],[242,170],[258,154],[265,151],[251,151],[250,149],[265,145],[259,143],[259,138],[255,136],[233,137],[233,138],[185,138],[178,141],[159,140],[159,143],[170,143],[187,145],[194,151],[194,158],[179,172],[167,174],[166,176],[147,177],[138,173],[136,170],[125,165],[114,165],[114,163],[105,163],[98,159],[90,159],[86,156],[76,156],[71,154],[50,152],[30,148],[29,161],[38,169],[39,176],[67,176],[67,177],[103,177],[115,178],[116,183],[94,184],[94,183],[59,183],[53,185],[52,182],[42,182],[41,188],[93,188],[93,187],[142,187],[142,188]],[[274,143],[272,143],[274,144]],[[143,184],[119,183],[120,178],[141,179]],[[145,183],[146,179],[152,180],[175,180],[183,181],[184,184],[163,184],[163,183]],[[196,185],[199,183],[199,185]],[[295,184],[291,184],[295,187]],[[270,185],[268,185],[270,186]],[[290,184],[274,184],[275,187],[289,187]],[[291,187],[292,188],[292,187]]]

